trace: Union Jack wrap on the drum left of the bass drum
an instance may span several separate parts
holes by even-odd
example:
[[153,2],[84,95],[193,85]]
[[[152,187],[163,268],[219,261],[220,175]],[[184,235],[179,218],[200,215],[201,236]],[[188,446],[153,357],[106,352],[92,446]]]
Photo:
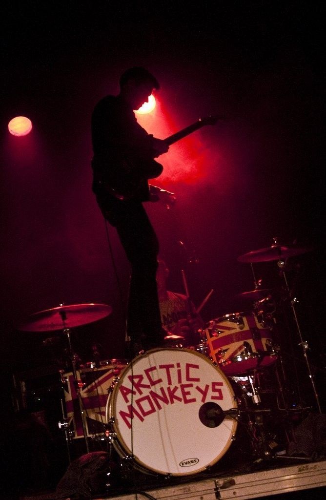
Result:
[[[76,370],[81,403],[86,415],[86,437],[105,432],[105,406],[109,388],[126,363],[106,364],[100,368],[80,368]],[[76,382],[72,372],[64,373],[65,409],[71,437],[84,437]]]

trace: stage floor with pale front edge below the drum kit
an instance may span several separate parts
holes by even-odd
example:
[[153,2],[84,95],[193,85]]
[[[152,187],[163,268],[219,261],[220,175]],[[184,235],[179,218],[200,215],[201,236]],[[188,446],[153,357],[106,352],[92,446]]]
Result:
[[[237,498],[314,499],[324,496],[326,459],[308,460],[301,457],[277,457],[256,461],[232,469],[215,471],[197,477],[171,477],[161,480],[135,477],[136,486],[116,487],[106,494],[89,496],[89,500],[228,500]],[[284,496],[285,495],[285,496]],[[55,492],[23,496],[21,500],[52,500]],[[73,496],[71,498],[74,498]]]

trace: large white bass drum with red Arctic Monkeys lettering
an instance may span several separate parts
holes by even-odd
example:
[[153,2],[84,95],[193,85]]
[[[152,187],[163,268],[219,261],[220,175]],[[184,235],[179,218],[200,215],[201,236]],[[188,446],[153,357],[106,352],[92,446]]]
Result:
[[164,475],[195,474],[229,448],[237,421],[223,410],[237,403],[223,372],[186,348],[148,350],[115,379],[106,403],[114,448],[135,468]]

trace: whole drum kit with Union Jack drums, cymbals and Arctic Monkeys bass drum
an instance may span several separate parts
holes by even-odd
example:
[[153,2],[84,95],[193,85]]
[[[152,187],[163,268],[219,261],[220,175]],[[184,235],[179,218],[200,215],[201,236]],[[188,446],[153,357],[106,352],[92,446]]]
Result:
[[[296,245],[279,245],[250,251],[238,261],[277,260],[283,273],[288,257],[309,251]],[[86,451],[92,440],[105,441],[129,470],[149,475],[188,476],[209,471],[236,440],[240,426],[249,436],[255,460],[275,456],[279,443],[268,428],[274,411],[288,415],[276,365],[280,349],[273,342],[273,314],[264,313],[272,290],[254,289],[239,294],[252,300],[250,312],[224,314],[198,330],[195,346],[174,344],[137,354],[131,361],[107,359],[79,364],[71,329],[98,321],[111,313],[106,304],[63,305],[37,312],[18,329],[32,332],[62,331],[67,338],[70,371],[60,370],[64,392],[59,427],[65,433],[68,456],[73,440],[83,438]],[[287,284],[287,283],[286,283]],[[296,319],[303,357],[311,374],[306,347]],[[272,368],[279,387],[277,404],[262,400],[261,378]],[[320,411],[313,377],[310,377]],[[284,443],[280,444],[284,447]]]

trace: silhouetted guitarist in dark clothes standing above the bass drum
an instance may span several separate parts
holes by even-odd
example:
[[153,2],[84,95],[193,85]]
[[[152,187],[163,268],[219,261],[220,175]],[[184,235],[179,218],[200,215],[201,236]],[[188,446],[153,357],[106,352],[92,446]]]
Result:
[[133,111],[159,88],[156,78],[143,67],[131,67],[120,76],[119,86],[117,95],[103,97],[92,112],[92,190],[131,264],[126,338],[131,340],[129,354],[135,355],[163,345],[155,279],[158,240],[143,201],[151,199],[148,179],[162,171],[154,158],[167,152],[168,145],[148,134]]

